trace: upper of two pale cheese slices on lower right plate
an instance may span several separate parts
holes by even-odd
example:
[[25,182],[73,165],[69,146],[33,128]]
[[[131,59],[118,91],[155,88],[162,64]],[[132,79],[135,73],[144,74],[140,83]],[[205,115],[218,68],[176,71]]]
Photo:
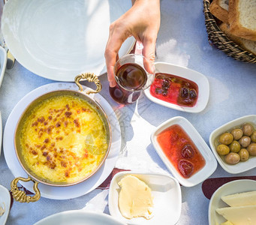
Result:
[[221,199],[230,206],[256,205],[256,191],[221,196]]

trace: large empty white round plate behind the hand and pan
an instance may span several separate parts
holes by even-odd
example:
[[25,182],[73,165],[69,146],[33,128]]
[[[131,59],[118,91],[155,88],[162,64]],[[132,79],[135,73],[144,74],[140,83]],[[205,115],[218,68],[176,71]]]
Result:
[[[104,50],[110,23],[131,7],[127,0],[8,0],[2,13],[2,33],[23,67],[50,80],[74,81],[74,76],[104,74]],[[134,37],[119,56],[131,51]]]

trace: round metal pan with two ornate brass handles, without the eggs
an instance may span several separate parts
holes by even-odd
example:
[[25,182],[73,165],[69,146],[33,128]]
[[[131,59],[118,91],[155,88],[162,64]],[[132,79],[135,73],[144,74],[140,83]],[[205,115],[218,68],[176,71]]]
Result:
[[[83,87],[80,85],[80,80],[88,80],[89,82],[94,82],[95,85],[97,86],[97,89],[94,90],[89,90],[87,92],[83,92]],[[109,154],[110,151],[110,146],[111,146],[111,139],[112,139],[112,132],[111,132],[111,127],[110,127],[110,121],[107,118],[107,114],[104,112],[103,108],[101,107],[100,104],[97,103],[93,98],[89,97],[90,94],[96,94],[101,91],[101,83],[98,80],[98,77],[95,74],[87,73],[87,74],[80,74],[75,78],[75,83],[79,87],[79,91],[74,91],[74,90],[68,90],[68,89],[63,89],[63,90],[57,90],[53,92],[48,92],[44,95],[41,95],[40,97],[34,99],[28,107],[23,111],[23,113],[20,115],[19,121],[17,122],[17,126],[15,129],[14,133],[14,148],[15,148],[15,153],[17,155],[17,159],[20,163],[20,165],[23,167],[24,171],[27,173],[29,176],[28,178],[21,178],[17,177],[14,178],[13,181],[11,181],[11,192],[13,193],[14,199],[16,199],[19,202],[35,202],[38,199],[40,199],[40,190],[38,189],[38,183],[41,184],[47,184],[53,187],[68,187],[71,185],[79,184],[83,181],[86,181],[86,179],[92,177],[98,169],[101,168],[101,166],[104,164],[104,161],[107,158],[107,155]],[[35,172],[32,171],[32,169],[29,169],[29,166],[26,164],[25,159],[23,157],[21,145],[20,145],[20,133],[21,133],[21,128],[23,121],[27,118],[29,115],[29,112],[34,109],[38,104],[40,104],[41,101],[47,100],[49,98],[55,97],[55,96],[60,96],[60,95],[70,95],[74,96],[77,98],[82,99],[83,101],[86,101],[87,104],[92,106],[100,115],[104,127],[106,129],[106,136],[107,136],[107,151],[104,154],[104,157],[101,159],[101,161],[98,163],[98,166],[96,166],[95,169],[92,170],[89,174],[84,175],[82,178],[77,179],[76,181],[72,182],[55,182],[55,181],[50,181],[46,180],[45,178],[42,178],[41,176],[38,176],[35,174]],[[90,121],[93,123],[93,121]],[[34,182],[33,189],[35,191],[34,196],[28,196],[25,191],[19,190],[17,187],[17,182],[18,181],[32,181]]]

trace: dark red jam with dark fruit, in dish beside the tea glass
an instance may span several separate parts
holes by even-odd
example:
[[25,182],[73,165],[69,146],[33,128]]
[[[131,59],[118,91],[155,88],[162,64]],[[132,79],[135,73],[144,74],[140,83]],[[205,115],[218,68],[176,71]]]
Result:
[[198,86],[191,80],[171,74],[155,74],[150,94],[162,101],[184,107],[194,107],[198,97]]

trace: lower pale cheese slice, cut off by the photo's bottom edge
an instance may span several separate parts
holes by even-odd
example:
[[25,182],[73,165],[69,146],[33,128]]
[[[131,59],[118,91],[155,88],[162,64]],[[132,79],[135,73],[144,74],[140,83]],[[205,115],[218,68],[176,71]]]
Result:
[[256,205],[217,208],[216,211],[235,225],[256,225]]

